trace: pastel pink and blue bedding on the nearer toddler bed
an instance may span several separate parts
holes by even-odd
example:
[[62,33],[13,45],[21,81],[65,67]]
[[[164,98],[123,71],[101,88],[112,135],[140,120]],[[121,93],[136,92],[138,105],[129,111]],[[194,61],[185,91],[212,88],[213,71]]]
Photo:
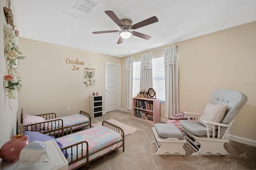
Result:
[[[105,147],[107,145],[110,145],[116,141],[119,141],[121,139],[121,135],[107,127],[104,127],[102,125],[100,126],[96,126],[90,129],[86,129],[83,131],[79,131],[76,133],[72,133],[70,135],[66,135],[60,138],[57,138],[56,141],[60,142],[62,144],[62,147],[67,147],[69,145],[78,143],[80,141],[87,141],[88,142],[88,147],[89,147],[89,154],[101,149],[102,147]],[[116,147],[119,147],[120,145],[122,145],[122,142],[117,143],[115,145],[112,145],[106,149],[101,150],[100,152],[96,152],[95,154],[92,154],[91,156],[89,156],[89,160],[92,160],[110,150],[115,149]],[[83,155],[86,155],[86,144],[83,144]],[[82,151],[81,151],[81,145],[80,147],[78,147],[79,152],[79,156],[78,158],[81,157],[82,155]],[[71,154],[71,149],[67,149],[68,152],[68,162],[71,162],[72,160],[76,160],[76,146],[72,147],[72,151],[73,154]],[[72,158],[73,157],[73,158]],[[68,169],[73,169],[83,163],[86,162],[86,158],[83,160],[80,160],[74,164],[71,164],[68,166]]]

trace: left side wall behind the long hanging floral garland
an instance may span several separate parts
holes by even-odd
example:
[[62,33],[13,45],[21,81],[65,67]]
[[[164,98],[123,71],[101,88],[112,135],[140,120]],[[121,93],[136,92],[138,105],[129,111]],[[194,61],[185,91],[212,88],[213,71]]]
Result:
[[[14,25],[16,24],[15,9],[11,0],[11,9],[14,16]],[[6,57],[4,55],[4,25],[6,20],[3,8],[6,1],[0,0],[0,147],[10,140],[12,135],[16,135],[16,116],[18,114],[18,100],[10,100],[6,97],[4,87],[4,76],[6,75]]]

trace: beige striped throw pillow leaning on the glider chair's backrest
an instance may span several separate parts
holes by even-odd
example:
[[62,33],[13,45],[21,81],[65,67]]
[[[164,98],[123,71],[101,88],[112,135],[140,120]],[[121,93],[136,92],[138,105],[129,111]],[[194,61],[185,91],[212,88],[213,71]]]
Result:
[[[220,105],[220,104],[213,104],[209,102],[206,107],[204,108],[202,116],[199,117],[198,123],[206,126],[206,123],[203,121],[213,121],[220,123],[226,113],[226,110],[228,108],[228,105]],[[212,131],[212,128],[209,127],[210,131]],[[217,129],[217,126],[215,126],[215,130]]]

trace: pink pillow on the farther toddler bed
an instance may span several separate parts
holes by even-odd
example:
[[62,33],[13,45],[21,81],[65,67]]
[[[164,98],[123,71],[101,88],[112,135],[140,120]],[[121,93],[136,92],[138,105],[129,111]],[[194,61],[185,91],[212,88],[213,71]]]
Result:
[[[44,121],[45,119],[40,116],[23,115],[23,125],[30,125],[30,124],[40,123]],[[28,126],[28,129],[24,128],[24,130],[29,130],[29,131],[36,131],[36,130],[40,131],[41,129],[44,129],[44,123],[33,125],[32,128],[31,126]]]

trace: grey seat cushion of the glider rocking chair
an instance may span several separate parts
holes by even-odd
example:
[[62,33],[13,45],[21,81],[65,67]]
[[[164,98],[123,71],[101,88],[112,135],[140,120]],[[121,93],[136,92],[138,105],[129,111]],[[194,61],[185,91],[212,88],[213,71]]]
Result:
[[[206,127],[204,125],[201,125],[200,123],[189,120],[181,120],[180,126],[183,127],[186,131],[192,133],[193,135],[206,136]],[[217,131],[215,131],[215,135],[217,135]],[[212,136],[211,131],[210,136]]]

